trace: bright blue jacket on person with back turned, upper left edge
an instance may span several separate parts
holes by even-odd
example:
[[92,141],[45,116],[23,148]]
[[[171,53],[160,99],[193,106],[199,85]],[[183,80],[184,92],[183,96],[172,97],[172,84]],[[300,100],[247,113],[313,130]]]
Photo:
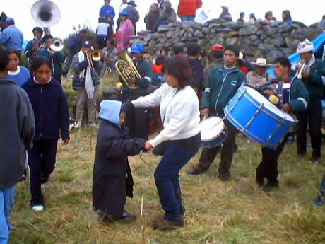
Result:
[[21,51],[24,42],[23,33],[15,25],[11,25],[1,33],[0,42],[4,45],[5,50],[14,49]]

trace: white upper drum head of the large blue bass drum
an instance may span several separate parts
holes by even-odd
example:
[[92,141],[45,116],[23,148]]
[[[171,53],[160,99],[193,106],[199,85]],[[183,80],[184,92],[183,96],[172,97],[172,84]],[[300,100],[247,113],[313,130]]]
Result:
[[270,110],[275,115],[278,115],[278,117],[283,117],[285,120],[288,120],[290,122],[295,122],[293,116],[289,115],[288,112],[284,112],[283,110],[278,109],[276,105],[274,105],[269,100],[267,100],[266,97],[264,97],[264,95],[261,95],[261,93],[256,91],[254,88],[251,88],[249,86],[245,86],[245,88],[247,90],[247,93],[249,93],[249,95],[251,95],[252,98],[254,98],[259,103],[264,104],[264,108]]

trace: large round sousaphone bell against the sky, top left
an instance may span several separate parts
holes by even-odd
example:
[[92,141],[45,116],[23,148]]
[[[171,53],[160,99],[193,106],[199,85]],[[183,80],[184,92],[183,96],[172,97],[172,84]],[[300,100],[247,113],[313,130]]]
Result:
[[49,0],[39,0],[30,10],[34,21],[44,27],[51,27],[59,22],[61,13],[56,4]]

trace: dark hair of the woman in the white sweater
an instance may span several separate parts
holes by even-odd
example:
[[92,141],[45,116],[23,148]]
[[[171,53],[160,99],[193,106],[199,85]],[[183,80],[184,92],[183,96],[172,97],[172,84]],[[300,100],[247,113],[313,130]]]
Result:
[[179,83],[179,90],[191,85],[192,70],[185,57],[172,57],[165,62],[165,72],[175,76]]

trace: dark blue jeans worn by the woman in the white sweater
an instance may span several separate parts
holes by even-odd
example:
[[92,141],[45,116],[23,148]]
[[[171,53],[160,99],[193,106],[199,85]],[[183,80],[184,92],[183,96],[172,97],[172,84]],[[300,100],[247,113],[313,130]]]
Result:
[[179,171],[199,151],[199,144],[191,149],[167,146],[165,154],[155,169],[155,185],[158,190],[165,218],[182,220],[182,193],[179,185]]

